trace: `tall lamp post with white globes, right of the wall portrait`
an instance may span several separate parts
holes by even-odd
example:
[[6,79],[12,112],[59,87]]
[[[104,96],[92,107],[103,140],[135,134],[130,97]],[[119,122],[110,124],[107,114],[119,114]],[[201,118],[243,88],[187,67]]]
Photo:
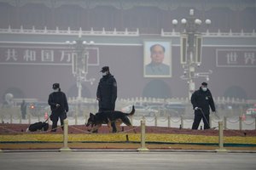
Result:
[[[180,32],[180,45],[181,45],[181,58],[180,62],[183,65],[183,80],[187,80],[189,84],[189,99],[192,93],[195,91],[194,78],[206,77],[209,81],[209,74],[212,71],[196,73],[195,68],[201,65],[201,32],[198,31],[202,21],[196,19],[194,16],[194,9],[189,10],[189,17],[183,18],[181,21],[183,30]],[[172,25],[177,26],[178,21],[172,20]],[[209,26],[211,20],[205,20],[205,24]]]

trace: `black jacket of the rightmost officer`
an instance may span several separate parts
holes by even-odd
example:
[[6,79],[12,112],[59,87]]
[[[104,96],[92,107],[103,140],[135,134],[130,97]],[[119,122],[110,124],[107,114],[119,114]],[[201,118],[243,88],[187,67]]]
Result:
[[[209,89],[207,89],[206,92],[204,92],[201,88],[196,90],[191,96],[191,103],[193,105],[193,109],[195,109],[195,107],[199,107],[204,114],[210,114],[209,106],[211,107],[212,111],[215,111],[214,101]],[[197,110],[195,113],[201,113],[201,111]]]

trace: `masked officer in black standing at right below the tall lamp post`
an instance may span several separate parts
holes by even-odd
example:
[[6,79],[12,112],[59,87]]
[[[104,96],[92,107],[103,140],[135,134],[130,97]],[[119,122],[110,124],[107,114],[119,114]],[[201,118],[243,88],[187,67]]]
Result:
[[192,129],[197,129],[201,119],[204,122],[204,129],[210,128],[209,124],[209,115],[210,108],[212,111],[215,111],[214,101],[212,99],[212,94],[210,90],[207,88],[207,82],[202,82],[201,87],[194,92],[191,96],[191,103],[193,105],[193,109],[195,110],[194,122],[192,125]]

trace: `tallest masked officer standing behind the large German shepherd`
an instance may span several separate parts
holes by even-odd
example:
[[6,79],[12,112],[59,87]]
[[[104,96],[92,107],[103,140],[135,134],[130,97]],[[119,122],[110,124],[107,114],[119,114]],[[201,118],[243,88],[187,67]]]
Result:
[[[99,82],[96,99],[99,102],[99,112],[114,111],[115,100],[117,98],[117,83],[113,75],[111,75],[108,66],[102,67],[102,78]],[[113,133],[116,132],[115,124],[111,124]]]

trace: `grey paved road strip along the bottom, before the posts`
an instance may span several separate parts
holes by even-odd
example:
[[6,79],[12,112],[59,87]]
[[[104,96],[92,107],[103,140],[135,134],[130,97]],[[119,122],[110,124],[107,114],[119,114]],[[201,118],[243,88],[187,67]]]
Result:
[[0,169],[215,170],[255,169],[256,154],[209,152],[0,153]]

